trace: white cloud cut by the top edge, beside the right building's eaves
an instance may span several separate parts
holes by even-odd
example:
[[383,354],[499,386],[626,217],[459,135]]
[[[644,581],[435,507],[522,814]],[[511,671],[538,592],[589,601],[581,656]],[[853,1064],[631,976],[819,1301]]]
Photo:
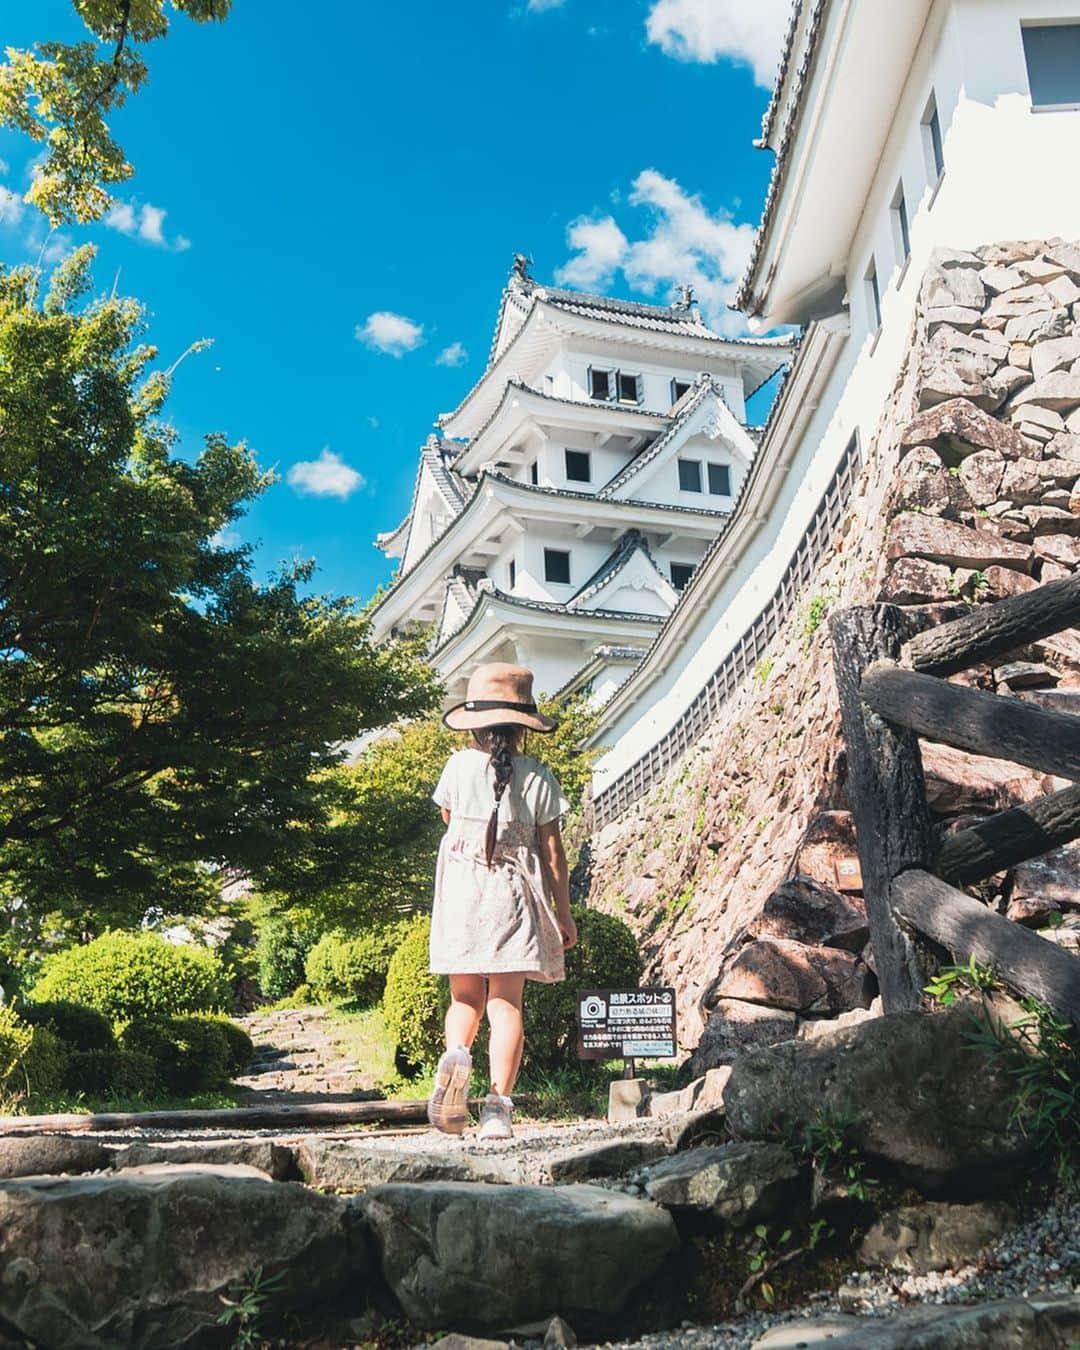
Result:
[[791,0],[656,0],[645,31],[676,61],[745,62],[770,89],[790,15]]

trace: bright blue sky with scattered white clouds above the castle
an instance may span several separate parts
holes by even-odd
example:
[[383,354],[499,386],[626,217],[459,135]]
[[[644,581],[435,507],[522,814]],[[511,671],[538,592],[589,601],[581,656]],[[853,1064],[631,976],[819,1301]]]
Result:
[[[259,572],[315,556],[366,597],[416,450],[483,369],[514,251],[535,275],[713,317],[741,273],[771,155],[751,142],[787,0],[235,0],[146,49],[115,122],[136,169],[96,278],[138,296],[184,454],[243,439],[281,475],[242,522]],[[0,40],[85,30],[14,0]],[[32,147],[0,132],[0,259],[36,259]],[[163,212],[163,215],[161,215]],[[374,317],[373,317],[374,316]],[[736,327],[732,328],[732,324]],[[290,481],[292,478],[292,481]]]

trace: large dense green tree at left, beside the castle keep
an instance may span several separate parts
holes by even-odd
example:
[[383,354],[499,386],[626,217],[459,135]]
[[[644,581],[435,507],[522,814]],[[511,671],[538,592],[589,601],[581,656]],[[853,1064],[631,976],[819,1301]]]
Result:
[[221,436],[173,452],[140,306],[86,301],[90,259],[43,297],[0,271],[0,894],[86,933],[225,867],[325,888],[333,747],[437,695],[312,564],[254,580],[223,531],[269,475]]

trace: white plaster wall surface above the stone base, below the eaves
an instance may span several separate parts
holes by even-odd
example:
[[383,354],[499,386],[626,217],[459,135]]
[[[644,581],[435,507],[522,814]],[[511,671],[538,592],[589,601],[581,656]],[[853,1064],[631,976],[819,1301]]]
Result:
[[[597,790],[678,721],[768,601],[798,547],[850,436],[872,446],[906,358],[918,286],[937,246],[998,239],[1080,238],[1080,112],[1033,112],[1022,19],[1080,19],[1080,0],[952,0],[936,5],[892,132],[865,185],[865,208],[846,270],[852,332],[801,439],[770,520],[713,603],[684,614],[686,634],[667,670],[603,732],[612,747]],[[945,173],[932,181],[921,127],[932,92],[945,140]],[[911,262],[902,271],[890,202],[903,177]],[[837,240],[837,255],[848,248]],[[875,336],[863,278],[878,258],[883,325]],[[807,597],[809,599],[809,597]]]

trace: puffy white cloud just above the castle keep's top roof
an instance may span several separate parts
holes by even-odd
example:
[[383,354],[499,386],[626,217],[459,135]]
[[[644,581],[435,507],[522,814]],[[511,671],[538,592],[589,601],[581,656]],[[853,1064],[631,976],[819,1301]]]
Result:
[[555,279],[606,290],[621,270],[633,290],[660,302],[676,285],[688,284],[716,328],[741,331],[742,320],[726,306],[749,261],[753,227],[736,224],[726,211],[710,212],[701,197],[656,169],[634,178],[628,200],[649,213],[648,228],[633,239],[613,216],[579,216],[567,228],[574,256]]

